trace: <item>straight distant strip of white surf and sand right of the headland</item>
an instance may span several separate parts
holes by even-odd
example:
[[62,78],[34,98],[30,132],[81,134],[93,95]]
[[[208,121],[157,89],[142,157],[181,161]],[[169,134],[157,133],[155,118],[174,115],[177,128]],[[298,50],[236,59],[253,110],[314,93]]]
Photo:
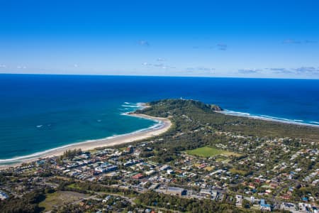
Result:
[[217,113],[220,114],[225,114],[225,115],[230,115],[230,116],[239,116],[239,117],[245,117],[245,118],[249,118],[249,119],[259,119],[262,121],[273,121],[273,122],[277,122],[277,123],[281,123],[281,124],[291,124],[291,125],[298,125],[298,126],[309,126],[309,127],[315,127],[315,128],[319,128],[319,125],[316,124],[308,124],[308,123],[302,123],[302,122],[298,122],[298,121],[285,121],[284,119],[281,118],[272,118],[271,116],[267,117],[267,116],[258,116],[258,115],[252,115],[249,113],[245,113],[245,112],[238,112],[238,111],[228,111],[227,109],[225,111],[215,111]]

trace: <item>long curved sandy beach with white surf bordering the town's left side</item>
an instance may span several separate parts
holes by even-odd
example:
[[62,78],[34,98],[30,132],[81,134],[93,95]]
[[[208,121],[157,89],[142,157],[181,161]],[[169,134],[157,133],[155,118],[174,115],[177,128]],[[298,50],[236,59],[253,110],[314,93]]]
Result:
[[[39,158],[51,158],[58,155],[62,155],[65,151],[74,148],[81,148],[82,151],[93,150],[94,148],[107,147],[107,146],[117,146],[125,143],[132,143],[134,141],[139,141],[143,139],[150,138],[152,136],[159,136],[160,134],[169,130],[172,126],[172,122],[166,118],[159,118],[153,116],[147,116],[145,114],[135,114],[133,112],[125,113],[127,116],[135,116],[142,119],[151,119],[157,121],[157,124],[150,126],[147,129],[141,129],[138,131],[133,131],[131,133],[125,133],[118,136],[110,136],[106,138],[83,141],[79,143],[71,143],[66,146],[60,146],[57,148],[52,148],[47,151],[33,153],[30,155],[24,155],[21,157],[10,158],[1,160],[3,164],[0,164],[0,170],[5,170],[7,168],[16,167],[22,163],[31,163]],[[1,163],[0,161],[0,163]]]

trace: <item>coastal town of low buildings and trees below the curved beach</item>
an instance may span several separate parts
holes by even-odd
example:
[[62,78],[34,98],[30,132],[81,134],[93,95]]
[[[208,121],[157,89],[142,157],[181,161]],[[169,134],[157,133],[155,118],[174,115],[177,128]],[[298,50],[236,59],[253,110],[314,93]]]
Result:
[[[195,122],[186,114],[169,114]],[[181,151],[174,148],[172,154],[172,148],[165,148],[199,135],[215,140]],[[318,154],[318,141],[245,135],[201,123],[1,170],[0,199],[9,202],[38,192],[45,195],[37,203],[43,212],[189,212],[191,207],[178,203],[195,200],[227,204],[234,212],[317,213]]]

